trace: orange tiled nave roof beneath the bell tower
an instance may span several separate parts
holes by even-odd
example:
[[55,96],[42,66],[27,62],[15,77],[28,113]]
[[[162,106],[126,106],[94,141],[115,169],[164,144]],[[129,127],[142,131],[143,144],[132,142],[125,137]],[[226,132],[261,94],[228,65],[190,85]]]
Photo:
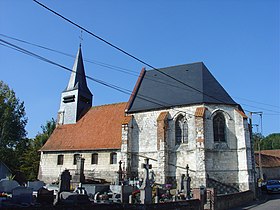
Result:
[[76,124],[57,126],[41,151],[120,149],[126,104],[92,107]]

